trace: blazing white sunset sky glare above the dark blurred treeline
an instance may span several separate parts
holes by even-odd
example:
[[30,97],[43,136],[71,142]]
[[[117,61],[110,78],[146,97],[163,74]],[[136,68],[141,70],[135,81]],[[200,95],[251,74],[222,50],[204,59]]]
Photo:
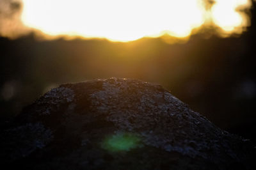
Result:
[[[46,35],[108,38],[127,42],[163,34],[183,38],[211,19],[224,31],[246,26],[237,12],[248,0],[23,0],[22,22]],[[208,12],[209,13],[209,12]]]

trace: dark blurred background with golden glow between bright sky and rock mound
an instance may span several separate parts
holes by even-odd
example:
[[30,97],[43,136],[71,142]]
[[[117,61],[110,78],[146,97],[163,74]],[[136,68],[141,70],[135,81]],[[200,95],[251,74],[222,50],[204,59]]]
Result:
[[255,142],[255,12],[254,3],[247,31],[227,38],[211,29],[189,40],[164,35],[132,42],[39,40],[33,31],[15,39],[2,35],[1,121],[61,83],[123,77],[161,84],[218,127]]

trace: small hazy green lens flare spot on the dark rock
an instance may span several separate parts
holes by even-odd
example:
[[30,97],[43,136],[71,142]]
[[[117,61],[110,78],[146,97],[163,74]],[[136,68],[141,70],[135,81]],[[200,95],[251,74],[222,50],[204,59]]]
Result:
[[118,133],[107,137],[102,143],[102,148],[108,151],[129,151],[137,148],[140,139],[137,135],[131,133]]

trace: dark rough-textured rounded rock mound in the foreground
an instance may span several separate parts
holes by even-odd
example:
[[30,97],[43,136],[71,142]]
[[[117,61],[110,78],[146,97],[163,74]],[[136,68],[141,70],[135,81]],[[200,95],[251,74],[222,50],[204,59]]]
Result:
[[52,89],[1,130],[1,160],[28,169],[253,169],[253,144],[156,84]]

